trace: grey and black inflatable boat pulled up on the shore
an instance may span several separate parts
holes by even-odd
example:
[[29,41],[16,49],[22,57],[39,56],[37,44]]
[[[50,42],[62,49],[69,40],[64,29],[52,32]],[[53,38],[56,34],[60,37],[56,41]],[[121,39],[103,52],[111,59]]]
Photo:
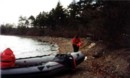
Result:
[[[73,70],[84,61],[85,56],[81,52],[70,54],[56,54],[49,56],[37,56],[16,59],[15,67],[2,68],[2,78],[29,78],[34,75],[54,75],[64,70]],[[28,77],[29,76],[29,77]]]

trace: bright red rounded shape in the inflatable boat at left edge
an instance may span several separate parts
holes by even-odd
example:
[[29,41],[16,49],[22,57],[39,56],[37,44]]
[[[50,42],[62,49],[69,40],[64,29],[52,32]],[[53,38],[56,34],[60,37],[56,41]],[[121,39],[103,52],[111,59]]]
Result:
[[1,68],[10,68],[15,66],[15,55],[10,48],[5,49],[1,54]]

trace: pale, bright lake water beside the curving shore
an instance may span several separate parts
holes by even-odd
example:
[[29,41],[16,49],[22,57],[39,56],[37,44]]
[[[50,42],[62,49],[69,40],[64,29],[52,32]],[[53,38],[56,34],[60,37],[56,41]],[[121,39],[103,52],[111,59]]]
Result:
[[10,48],[16,58],[56,54],[58,46],[32,38],[0,35],[0,52]]

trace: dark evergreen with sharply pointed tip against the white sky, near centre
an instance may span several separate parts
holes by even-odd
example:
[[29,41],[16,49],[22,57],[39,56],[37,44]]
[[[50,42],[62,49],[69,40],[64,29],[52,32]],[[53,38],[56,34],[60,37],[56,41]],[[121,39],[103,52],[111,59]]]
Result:
[[67,10],[63,8],[60,2],[57,3],[57,6],[53,8],[48,14],[48,24],[51,28],[56,26],[64,25],[67,19]]

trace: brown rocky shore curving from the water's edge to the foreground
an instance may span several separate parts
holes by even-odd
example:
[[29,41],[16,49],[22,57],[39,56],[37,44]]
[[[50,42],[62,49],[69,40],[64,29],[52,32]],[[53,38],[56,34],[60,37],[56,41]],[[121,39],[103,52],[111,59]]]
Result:
[[[59,46],[59,53],[72,52],[70,38],[34,37]],[[130,49],[107,49],[102,41],[94,42],[81,38],[83,45],[80,51],[87,60],[77,66],[75,71],[54,76],[54,78],[130,78]]]

